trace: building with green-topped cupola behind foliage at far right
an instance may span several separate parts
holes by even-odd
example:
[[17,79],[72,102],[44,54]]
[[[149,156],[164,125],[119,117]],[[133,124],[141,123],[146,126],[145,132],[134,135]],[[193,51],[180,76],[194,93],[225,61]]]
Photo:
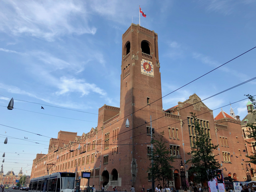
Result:
[[[252,147],[252,145],[250,143],[247,143],[247,142],[255,142],[255,140],[252,138],[248,138],[247,134],[249,134],[248,132],[251,131],[251,128],[246,127],[246,125],[247,125],[247,123],[256,123],[256,115],[252,113],[252,111],[254,110],[254,107],[250,101],[248,101],[248,103],[246,104],[246,108],[247,108],[248,114],[241,121],[241,127],[242,127],[243,137],[244,137],[244,141],[245,141],[246,154],[252,155],[252,153],[254,153],[254,154],[256,153],[256,149],[254,147]],[[250,174],[252,176],[252,180],[255,181],[256,180],[256,172],[255,172],[256,165],[248,163],[248,167],[250,168]]]

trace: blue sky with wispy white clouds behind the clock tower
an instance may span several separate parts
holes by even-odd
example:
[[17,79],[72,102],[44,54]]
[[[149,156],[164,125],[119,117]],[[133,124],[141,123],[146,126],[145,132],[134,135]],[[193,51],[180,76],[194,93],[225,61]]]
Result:
[[[132,18],[139,23],[139,5],[147,15],[141,17],[141,26],[158,33],[163,96],[256,46],[255,0],[2,0],[0,94],[95,114],[104,104],[119,107],[122,34]],[[255,55],[256,49],[170,94],[163,108],[194,93],[204,99],[254,78]],[[255,85],[254,80],[204,103],[210,109],[224,106],[244,94],[255,95]],[[10,100],[4,96],[1,106]],[[246,103],[232,105],[241,119]],[[49,106],[42,110],[39,104],[17,100],[14,108],[0,107],[0,124],[53,138],[60,130],[82,135],[97,126],[95,114]],[[229,109],[223,108],[227,113]],[[1,152],[6,152],[4,173],[13,168],[17,174],[22,167],[30,174],[36,153],[48,151],[49,138],[4,126],[0,140]]]

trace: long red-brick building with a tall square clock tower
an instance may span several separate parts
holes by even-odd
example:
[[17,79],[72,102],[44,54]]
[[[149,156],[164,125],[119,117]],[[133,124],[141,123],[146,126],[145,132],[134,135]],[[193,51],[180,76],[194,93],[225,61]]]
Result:
[[[239,117],[221,110],[214,120],[212,111],[193,94],[168,110],[162,109],[158,35],[139,25],[131,24],[122,35],[122,65],[120,82],[120,108],[104,105],[98,111],[98,125],[90,132],[77,136],[75,132],[58,133],[50,139],[48,154],[37,154],[33,161],[31,178],[52,172],[91,172],[90,186],[106,190],[114,186],[129,191],[151,188],[146,178],[150,166],[150,116],[154,135],[164,131],[164,141],[174,157],[174,180],[171,185],[180,189],[179,164],[191,158],[195,139],[190,112],[196,113],[200,125],[210,134],[213,144],[220,144],[213,153],[222,164],[224,176],[244,181],[244,138]],[[126,119],[130,127],[126,128]],[[70,128],[71,129],[71,128]],[[79,150],[80,145],[80,150]],[[190,164],[186,166],[186,179]],[[235,169],[234,169],[235,168]],[[87,180],[81,179],[81,188]]]

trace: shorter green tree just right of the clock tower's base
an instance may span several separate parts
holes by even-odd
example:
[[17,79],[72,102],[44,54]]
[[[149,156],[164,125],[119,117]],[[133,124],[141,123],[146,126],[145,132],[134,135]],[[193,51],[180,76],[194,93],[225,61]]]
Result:
[[[172,180],[172,168],[170,164],[174,162],[173,157],[170,156],[170,152],[167,149],[166,142],[163,141],[164,132],[160,133],[159,140],[152,140],[153,144],[153,152],[152,155],[149,157],[150,160],[154,160],[154,166],[152,167],[152,163],[150,164],[150,168],[148,168],[147,172],[150,173],[148,177],[151,180],[151,177],[154,176],[158,182],[163,181],[164,183],[168,180]],[[154,136],[154,138],[156,138]],[[169,147],[169,146],[168,146]],[[154,181],[152,181],[154,182]]]

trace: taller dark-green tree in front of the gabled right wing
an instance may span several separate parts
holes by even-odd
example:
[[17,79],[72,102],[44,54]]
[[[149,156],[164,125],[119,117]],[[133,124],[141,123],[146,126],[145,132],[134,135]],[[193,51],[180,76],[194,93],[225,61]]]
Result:
[[206,181],[208,187],[208,181],[212,181],[217,176],[220,164],[216,161],[215,156],[212,152],[218,148],[218,145],[211,144],[210,136],[206,128],[201,127],[199,120],[195,113],[190,113],[192,120],[194,120],[194,130],[196,134],[196,141],[193,142],[191,147],[191,159],[186,163],[191,163],[192,168],[188,170],[189,174],[194,174],[194,181],[202,183]]

